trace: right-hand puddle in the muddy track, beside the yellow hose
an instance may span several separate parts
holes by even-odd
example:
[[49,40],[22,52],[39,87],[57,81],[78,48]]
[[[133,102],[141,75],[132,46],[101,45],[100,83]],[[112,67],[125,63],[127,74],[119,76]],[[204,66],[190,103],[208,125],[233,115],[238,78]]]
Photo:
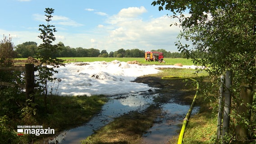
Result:
[[[177,134],[178,124],[181,124],[190,106],[177,103],[166,103],[162,106],[162,116],[158,117],[154,126],[143,135],[142,144],[166,144],[169,139]],[[192,114],[198,112],[199,107],[194,107]]]

